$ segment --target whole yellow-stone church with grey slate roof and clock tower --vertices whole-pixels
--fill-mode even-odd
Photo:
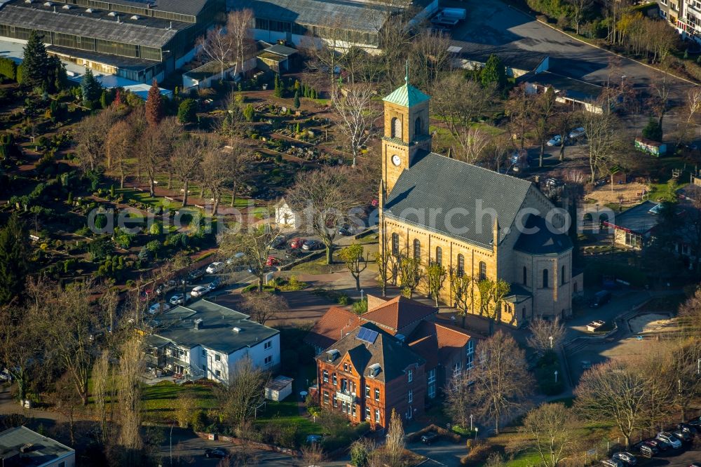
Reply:
[[[571,316],[583,274],[573,271],[566,212],[531,182],[432,152],[430,97],[408,74],[383,101],[379,231],[381,252],[395,259],[390,278],[401,257],[414,257],[473,283],[508,282],[502,323]],[[439,298],[453,306],[454,297],[447,278]]]

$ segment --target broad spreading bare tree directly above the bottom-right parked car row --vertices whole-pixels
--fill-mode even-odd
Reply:
[[[613,421],[628,448],[633,432],[644,428],[648,391],[648,378],[630,361],[608,360],[582,375],[575,390],[575,407],[587,420]]]

